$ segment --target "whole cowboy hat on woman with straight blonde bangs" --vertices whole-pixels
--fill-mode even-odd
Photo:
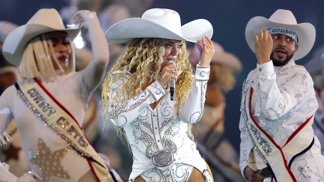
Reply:
[[[56,9],[40,9],[25,24],[9,33],[3,44],[3,55],[9,63],[19,65],[27,43],[46,32],[64,31],[72,41],[79,28],[65,28]]]

